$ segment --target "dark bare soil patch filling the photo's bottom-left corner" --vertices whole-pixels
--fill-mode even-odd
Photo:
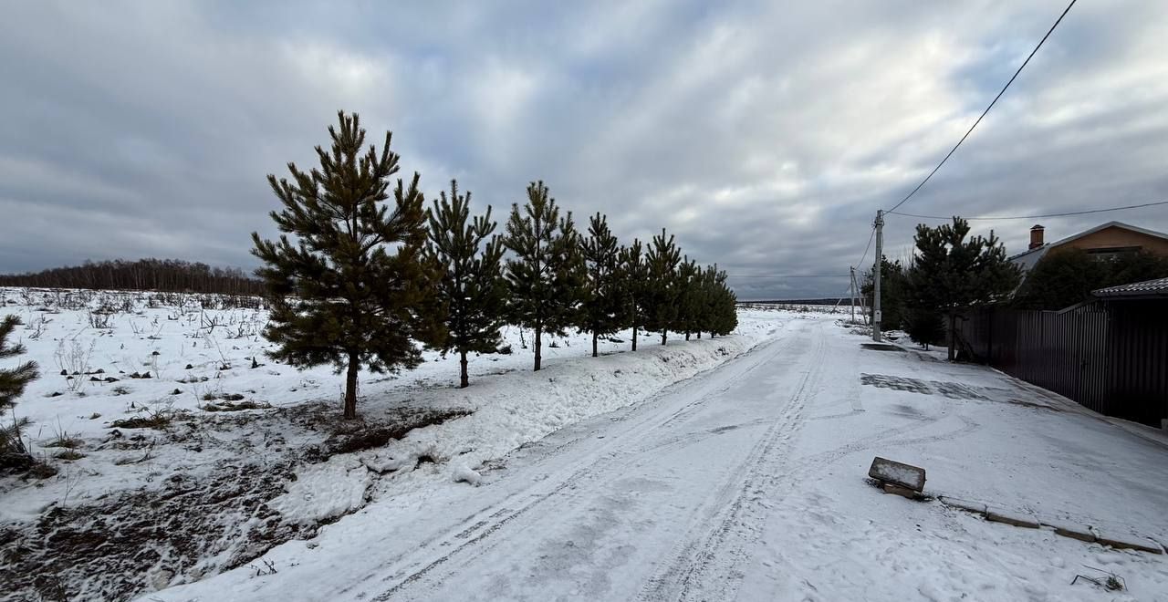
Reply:
[[[224,467],[201,482],[174,475],[161,489],[54,508],[30,528],[0,533],[0,582],[29,600],[127,600],[175,575],[244,565],[315,533],[264,505],[290,478],[288,463]]]

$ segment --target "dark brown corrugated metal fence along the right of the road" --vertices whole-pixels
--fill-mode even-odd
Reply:
[[[1168,418],[1163,301],[972,310],[958,321],[958,335],[974,359],[1096,412],[1156,427]]]

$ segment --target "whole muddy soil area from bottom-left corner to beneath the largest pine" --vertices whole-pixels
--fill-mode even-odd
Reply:
[[[228,404],[248,402],[217,402]],[[305,404],[267,412],[167,412],[173,415],[165,422],[154,421],[154,413],[118,421],[119,428],[137,430],[112,429],[92,454],[119,453],[114,463],[134,464],[173,457],[167,450],[183,448],[228,452],[238,460],[197,476],[164,469],[150,487],[53,508],[35,523],[0,525],[0,597],[128,600],[248,565],[340,518],[297,524],[269,506],[297,480],[298,466],[381,447],[470,413],[394,408],[346,421],[333,404]],[[232,436],[222,436],[227,432]],[[319,443],[301,447],[305,439]]]

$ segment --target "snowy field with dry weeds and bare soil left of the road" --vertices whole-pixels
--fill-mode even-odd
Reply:
[[[227,568],[263,573],[252,559],[273,545],[375,501],[468,489],[520,446],[642,401],[781,324],[742,312],[732,336],[665,348],[642,336],[637,354],[623,332],[599,358],[586,335],[569,336],[544,342],[540,372],[510,328],[514,352],[472,357],[466,390],[437,354],[396,377],[362,374],[353,425],[340,420],[343,378],[267,359],[266,312],[234,304],[0,289],[0,314],[25,321],[21,359],[42,373],[16,415],[57,469],[0,480],[0,597],[124,598]]]

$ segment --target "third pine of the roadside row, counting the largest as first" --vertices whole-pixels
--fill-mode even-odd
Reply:
[[[584,264],[577,249],[576,226],[569,211],[559,217],[548,187],[531,182],[527,204],[512,205],[505,244],[515,258],[507,260],[508,313],[521,328],[534,330],[535,370],[540,370],[542,336],[564,336],[578,322]]]

